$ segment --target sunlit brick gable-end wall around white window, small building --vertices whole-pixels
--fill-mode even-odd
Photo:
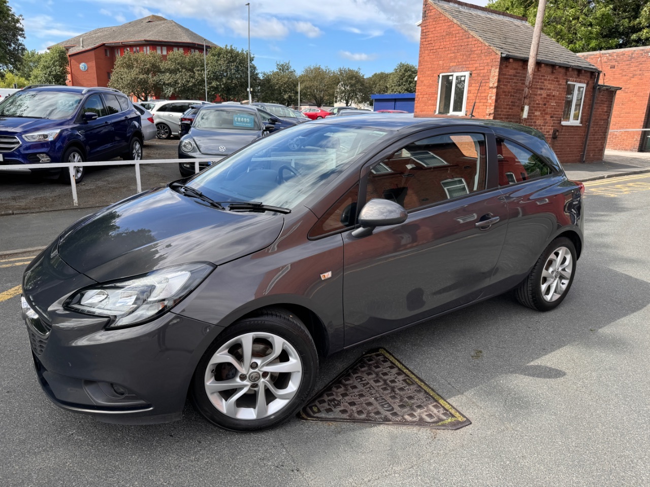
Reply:
[[[476,99],[474,117],[493,118],[499,55],[425,0],[415,90],[415,116],[428,117],[435,114],[440,73],[461,71],[471,72],[467,81],[465,114],[469,116]]]

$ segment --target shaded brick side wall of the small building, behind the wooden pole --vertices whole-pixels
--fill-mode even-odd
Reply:
[[[538,63],[530,88],[528,118],[522,120],[521,104],[526,69],[528,69],[527,61],[513,59],[501,61],[494,118],[515,123],[523,121],[525,125],[538,129],[544,134],[560,162],[580,162],[596,73]],[[580,125],[562,125],[567,81],[587,85]],[[553,131],[557,131],[557,138],[552,138]],[[590,145],[593,145],[593,139],[590,140]],[[603,148],[596,147],[595,153],[602,152],[601,149]],[[596,160],[601,160],[601,157]],[[593,159],[586,160],[586,162],[592,161]]]

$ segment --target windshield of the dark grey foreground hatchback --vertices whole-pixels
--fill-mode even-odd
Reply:
[[[187,184],[215,201],[258,201],[291,210],[387,133],[301,123],[248,145]]]

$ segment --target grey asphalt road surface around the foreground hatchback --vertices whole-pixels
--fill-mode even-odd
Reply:
[[[168,425],[98,423],[49,403],[19,298],[0,294],[0,485],[648,485],[650,175],[636,178],[587,185],[586,249],[560,308],[497,297],[322,364],[319,386],[386,347],[471,419],[458,431],[292,419],[235,434],[191,406]],[[31,255],[0,257],[0,293]]]

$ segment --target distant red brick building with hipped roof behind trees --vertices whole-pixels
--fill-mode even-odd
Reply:
[[[172,51],[203,53],[203,42],[206,47],[216,47],[173,20],[150,15],[117,27],[101,27],[59,45],[68,51],[68,85],[108,86],[116,58],[126,51],[158,51],[166,59]]]

